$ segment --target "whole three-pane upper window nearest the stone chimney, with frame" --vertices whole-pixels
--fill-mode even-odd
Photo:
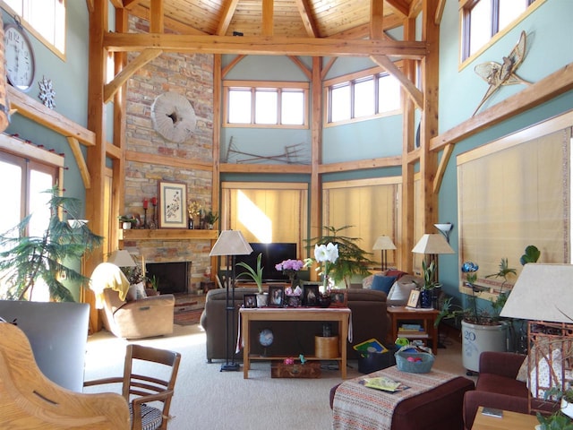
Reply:
[[[308,127],[307,82],[224,82],[225,125]]]

